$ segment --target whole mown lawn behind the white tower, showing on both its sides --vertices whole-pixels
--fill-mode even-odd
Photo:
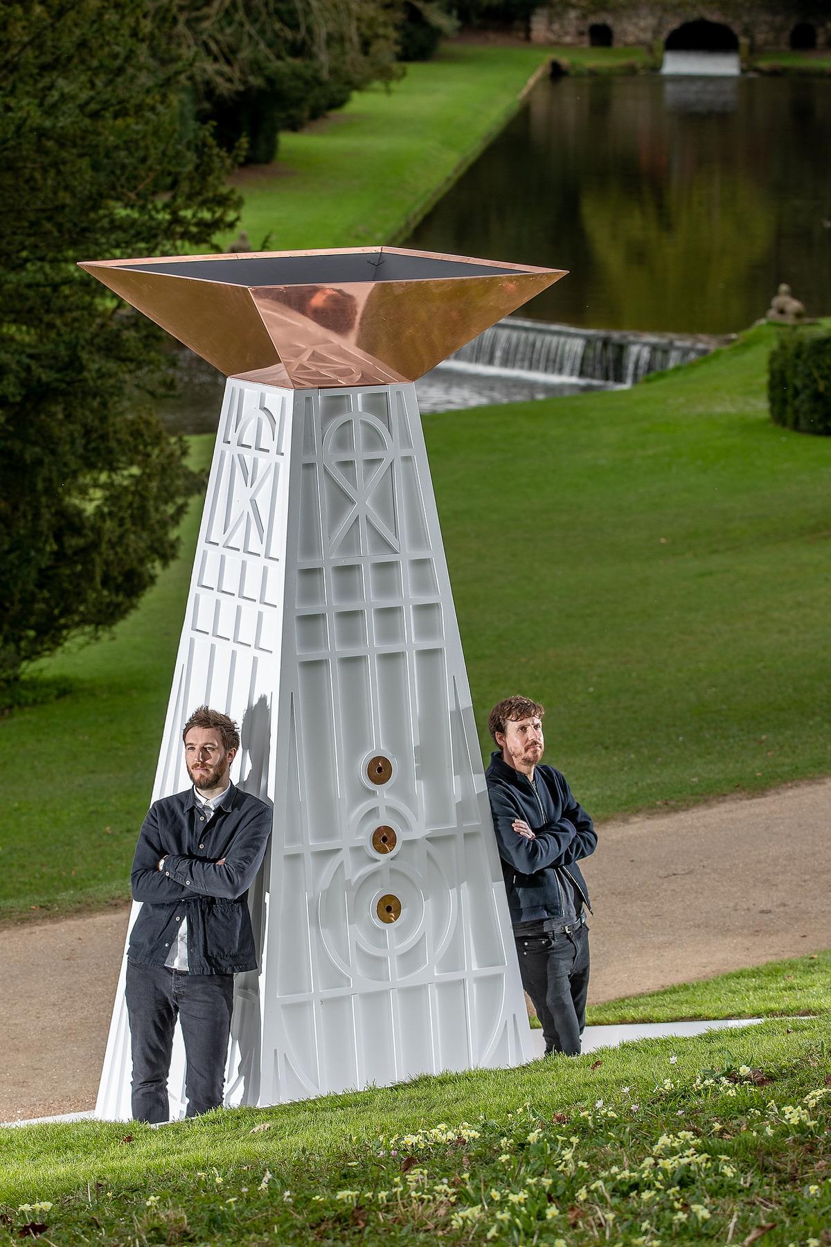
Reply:
[[[542,698],[594,814],[831,769],[831,439],[767,419],[774,333],[629,392],[425,419],[478,722]],[[125,894],[197,511],[115,636],[45,665],[72,695],[0,722],[0,913]]]

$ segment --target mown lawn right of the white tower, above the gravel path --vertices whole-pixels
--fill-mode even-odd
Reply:
[[[593,813],[830,768],[831,439],[770,423],[774,338],[427,423],[480,722],[539,697]]]

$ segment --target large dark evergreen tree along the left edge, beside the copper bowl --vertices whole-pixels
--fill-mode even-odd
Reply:
[[[176,552],[194,476],[143,398],[162,335],[77,259],[211,248],[228,160],[188,120],[162,0],[4,5],[0,46],[0,692],[121,620]]]

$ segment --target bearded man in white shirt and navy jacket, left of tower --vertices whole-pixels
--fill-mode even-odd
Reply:
[[[222,1104],[234,974],[257,968],[248,913],[272,829],[265,802],[230,782],[237,725],[201,706],[182,732],[193,787],[153,802],[130,877],[142,907],[127,949],[136,1121],[169,1117],[167,1076],[182,1026],[187,1116]]]

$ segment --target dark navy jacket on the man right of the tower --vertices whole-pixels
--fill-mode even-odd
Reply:
[[[532,784],[496,751],[491,754],[485,778],[511,922],[562,917],[554,867],[559,867],[577,884],[588,905],[588,888],[577,863],[594,852],[597,833],[559,771],[547,766],[534,767]],[[512,826],[515,818],[523,818],[536,833],[536,839],[518,835]]]

